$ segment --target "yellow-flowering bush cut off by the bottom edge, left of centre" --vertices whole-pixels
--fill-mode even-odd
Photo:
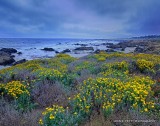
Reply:
[[[53,105],[42,112],[39,124],[42,126],[78,126],[81,124],[82,116],[76,111],[64,109],[62,106]]]

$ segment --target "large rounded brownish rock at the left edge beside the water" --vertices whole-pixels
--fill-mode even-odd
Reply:
[[[10,54],[0,51],[0,65],[9,65],[13,62],[15,62],[15,60]]]

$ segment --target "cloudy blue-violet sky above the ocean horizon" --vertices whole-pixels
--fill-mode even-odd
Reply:
[[[160,0],[0,0],[0,38],[160,34]]]

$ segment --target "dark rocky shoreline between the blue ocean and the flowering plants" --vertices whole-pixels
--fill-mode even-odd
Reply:
[[[63,51],[57,51],[54,48],[45,47],[41,49],[46,52],[54,52],[57,53],[67,53],[67,54],[80,54],[80,53],[99,53],[100,51],[106,51],[108,53],[112,52],[124,52],[124,53],[154,53],[160,54],[160,41],[159,40],[124,40],[119,42],[118,44],[114,43],[100,43],[95,46],[102,46],[103,49],[95,49],[89,44],[80,44],[76,43],[78,47],[74,49],[64,49]],[[0,65],[2,66],[12,66],[20,63],[24,63],[27,60],[21,59],[16,61],[16,55],[22,55],[23,52],[18,52],[18,50],[14,48],[2,48],[0,49]],[[48,57],[50,58],[50,57]]]

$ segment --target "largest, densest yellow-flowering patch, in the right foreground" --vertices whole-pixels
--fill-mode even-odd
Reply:
[[[153,84],[149,77],[136,76],[124,82],[116,78],[90,78],[79,88],[71,106],[83,116],[93,109],[102,110],[105,115],[122,107],[149,111],[154,108],[152,100],[147,99]]]

